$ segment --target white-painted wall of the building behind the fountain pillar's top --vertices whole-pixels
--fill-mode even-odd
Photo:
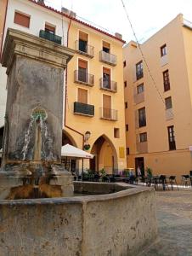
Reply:
[[[30,27],[20,26],[14,24],[14,11],[18,10],[26,15],[31,15]],[[59,14],[54,13],[51,10],[45,9],[42,6],[38,6],[35,3],[31,3],[26,0],[9,0],[8,1],[8,13],[6,18],[6,25],[4,31],[4,40],[6,38],[6,33],[8,27],[19,29],[23,32],[31,33],[35,36],[39,36],[39,31],[44,29],[45,22],[53,24],[56,26],[55,34],[64,38],[62,44],[66,46],[67,44],[67,30],[68,30],[68,20]],[[4,43],[4,42],[3,42]],[[6,69],[0,66],[0,127],[4,125],[4,113],[7,101],[7,75],[5,73]]]

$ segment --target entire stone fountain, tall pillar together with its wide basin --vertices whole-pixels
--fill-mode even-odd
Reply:
[[[64,46],[8,29],[1,256],[134,256],[157,235],[154,189],[73,184],[61,165],[64,69],[72,56]]]

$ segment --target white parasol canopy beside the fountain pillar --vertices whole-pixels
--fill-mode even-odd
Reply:
[[[66,144],[61,148],[61,156],[67,157],[76,157],[76,158],[93,158],[93,154],[89,154],[86,151],[83,151],[80,148],[76,148],[71,146],[70,144]]]

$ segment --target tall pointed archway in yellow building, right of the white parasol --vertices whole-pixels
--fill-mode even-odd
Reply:
[[[105,135],[100,136],[93,143],[91,154],[94,154],[93,160],[90,160],[91,170],[99,172],[104,169],[108,174],[118,171],[116,148]]]

